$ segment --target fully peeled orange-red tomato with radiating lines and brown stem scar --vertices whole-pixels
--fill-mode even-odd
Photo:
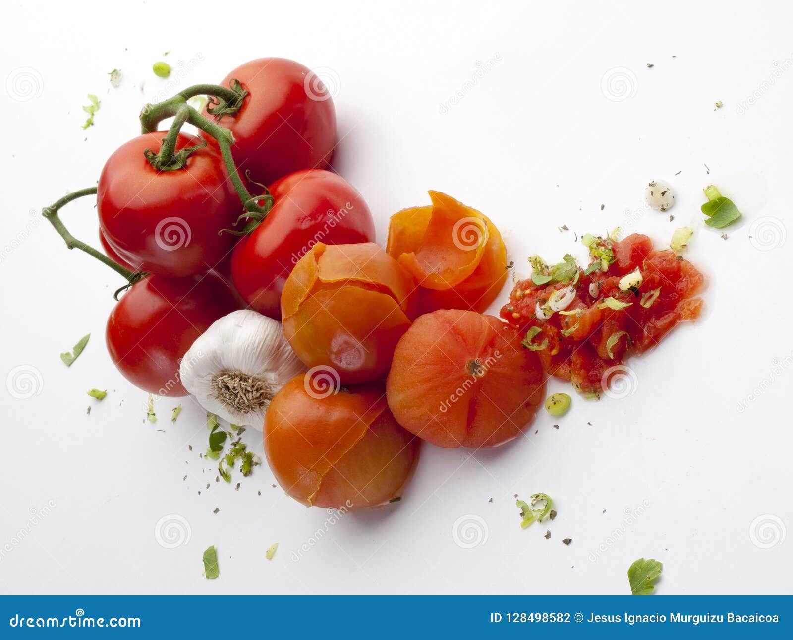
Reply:
[[[495,316],[438,310],[401,338],[385,388],[394,418],[419,438],[495,446],[531,424],[545,374],[519,333]]]

